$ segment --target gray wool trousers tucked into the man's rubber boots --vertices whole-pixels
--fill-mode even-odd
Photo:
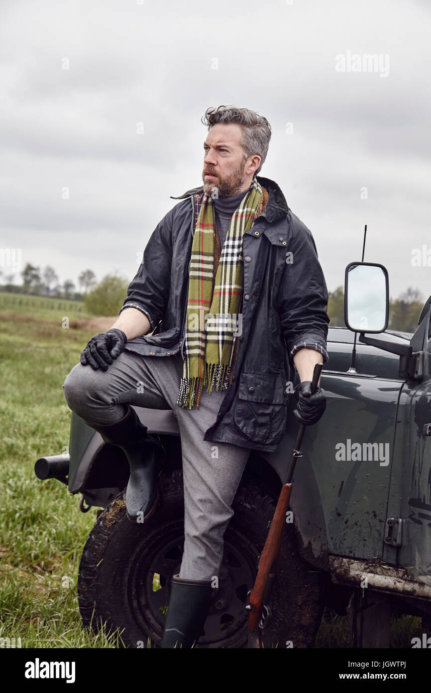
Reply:
[[[125,403],[175,412],[183,451],[185,506],[179,577],[210,580],[219,574],[223,535],[250,450],[203,440],[226,390],[208,393],[204,387],[199,409],[177,407],[182,373],[180,353],[153,357],[125,349],[107,371],[93,371],[78,363],[62,387],[68,407],[89,426],[120,421]]]

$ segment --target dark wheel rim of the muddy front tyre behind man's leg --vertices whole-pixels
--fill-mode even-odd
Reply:
[[[180,570],[183,544],[182,527],[178,527],[146,545],[144,551],[138,547],[132,559],[128,590],[131,611],[139,629],[152,632],[158,642],[163,637],[171,581]],[[214,589],[205,634],[197,647],[229,647],[230,640],[245,644],[246,597],[255,581],[256,565],[257,554],[246,538],[227,530],[219,586]]]

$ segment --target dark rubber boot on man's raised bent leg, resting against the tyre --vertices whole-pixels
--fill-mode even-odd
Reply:
[[[158,464],[164,460],[164,451],[158,439],[147,433],[147,426],[128,404],[127,413],[117,423],[92,426],[105,443],[123,450],[130,467],[126,489],[126,513],[131,522],[150,518],[158,505]]]

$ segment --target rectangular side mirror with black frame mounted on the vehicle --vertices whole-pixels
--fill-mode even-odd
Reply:
[[[383,265],[351,262],[345,274],[345,323],[353,332],[384,332],[389,322],[389,279]]]

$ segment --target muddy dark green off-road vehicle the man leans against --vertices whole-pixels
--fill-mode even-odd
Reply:
[[[329,328],[322,371],[327,410],[306,429],[293,477],[265,647],[310,647],[324,606],[351,615],[351,647],[388,647],[391,613],[431,625],[431,297],[414,335],[386,329],[382,265],[351,263],[345,297],[348,328]],[[292,397],[277,453],[250,453],[196,647],[246,647],[248,592],[295,441],[294,408]],[[183,552],[181,441],[174,412],[136,411],[168,459],[161,505],[145,524],[126,516],[122,451],[75,414],[70,454],[38,459],[35,472],[80,493],[83,512],[102,509],[80,562],[84,626],[103,622],[129,647],[158,647]]]

